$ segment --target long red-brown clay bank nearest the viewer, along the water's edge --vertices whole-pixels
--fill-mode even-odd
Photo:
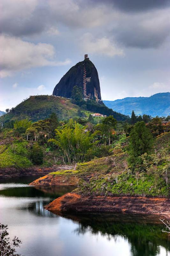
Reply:
[[[170,219],[170,198],[147,198],[135,196],[82,196],[67,193],[44,207],[61,213],[137,213],[159,215]]]

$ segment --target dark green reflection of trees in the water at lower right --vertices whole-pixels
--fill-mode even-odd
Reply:
[[[128,220],[127,220],[128,218]],[[162,233],[162,225],[154,223],[154,220],[147,220],[142,217],[135,219],[134,216],[90,216],[76,217],[79,222],[75,232],[85,234],[101,234],[107,239],[116,239],[123,237],[131,245],[131,254],[133,256],[156,256],[160,253],[160,246],[170,252],[170,237]]]

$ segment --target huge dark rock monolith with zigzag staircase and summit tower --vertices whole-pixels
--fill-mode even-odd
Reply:
[[[98,72],[89,60],[88,54],[85,54],[85,59],[70,68],[61,78],[54,88],[53,95],[71,98],[75,85],[82,88],[84,99],[101,100]]]

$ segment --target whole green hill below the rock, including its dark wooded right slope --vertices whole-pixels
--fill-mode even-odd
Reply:
[[[91,102],[87,104],[87,110],[73,104],[70,99],[49,95],[30,96],[29,99],[21,102],[10,112],[0,117],[0,122],[7,122],[11,120],[29,119],[38,121],[48,118],[51,113],[56,113],[60,120],[65,120],[74,117],[89,116],[94,112],[104,115],[114,115],[117,120],[125,120],[127,116],[114,112],[107,108],[103,103]]]

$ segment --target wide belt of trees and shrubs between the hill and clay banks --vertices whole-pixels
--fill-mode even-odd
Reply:
[[[132,113],[129,123],[113,116],[96,122],[91,115],[59,121],[52,113],[16,120],[0,130],[0,168],[76,164],[52,174],[77,177],[78,193],[167,197],[170,125],[144,119]]]

